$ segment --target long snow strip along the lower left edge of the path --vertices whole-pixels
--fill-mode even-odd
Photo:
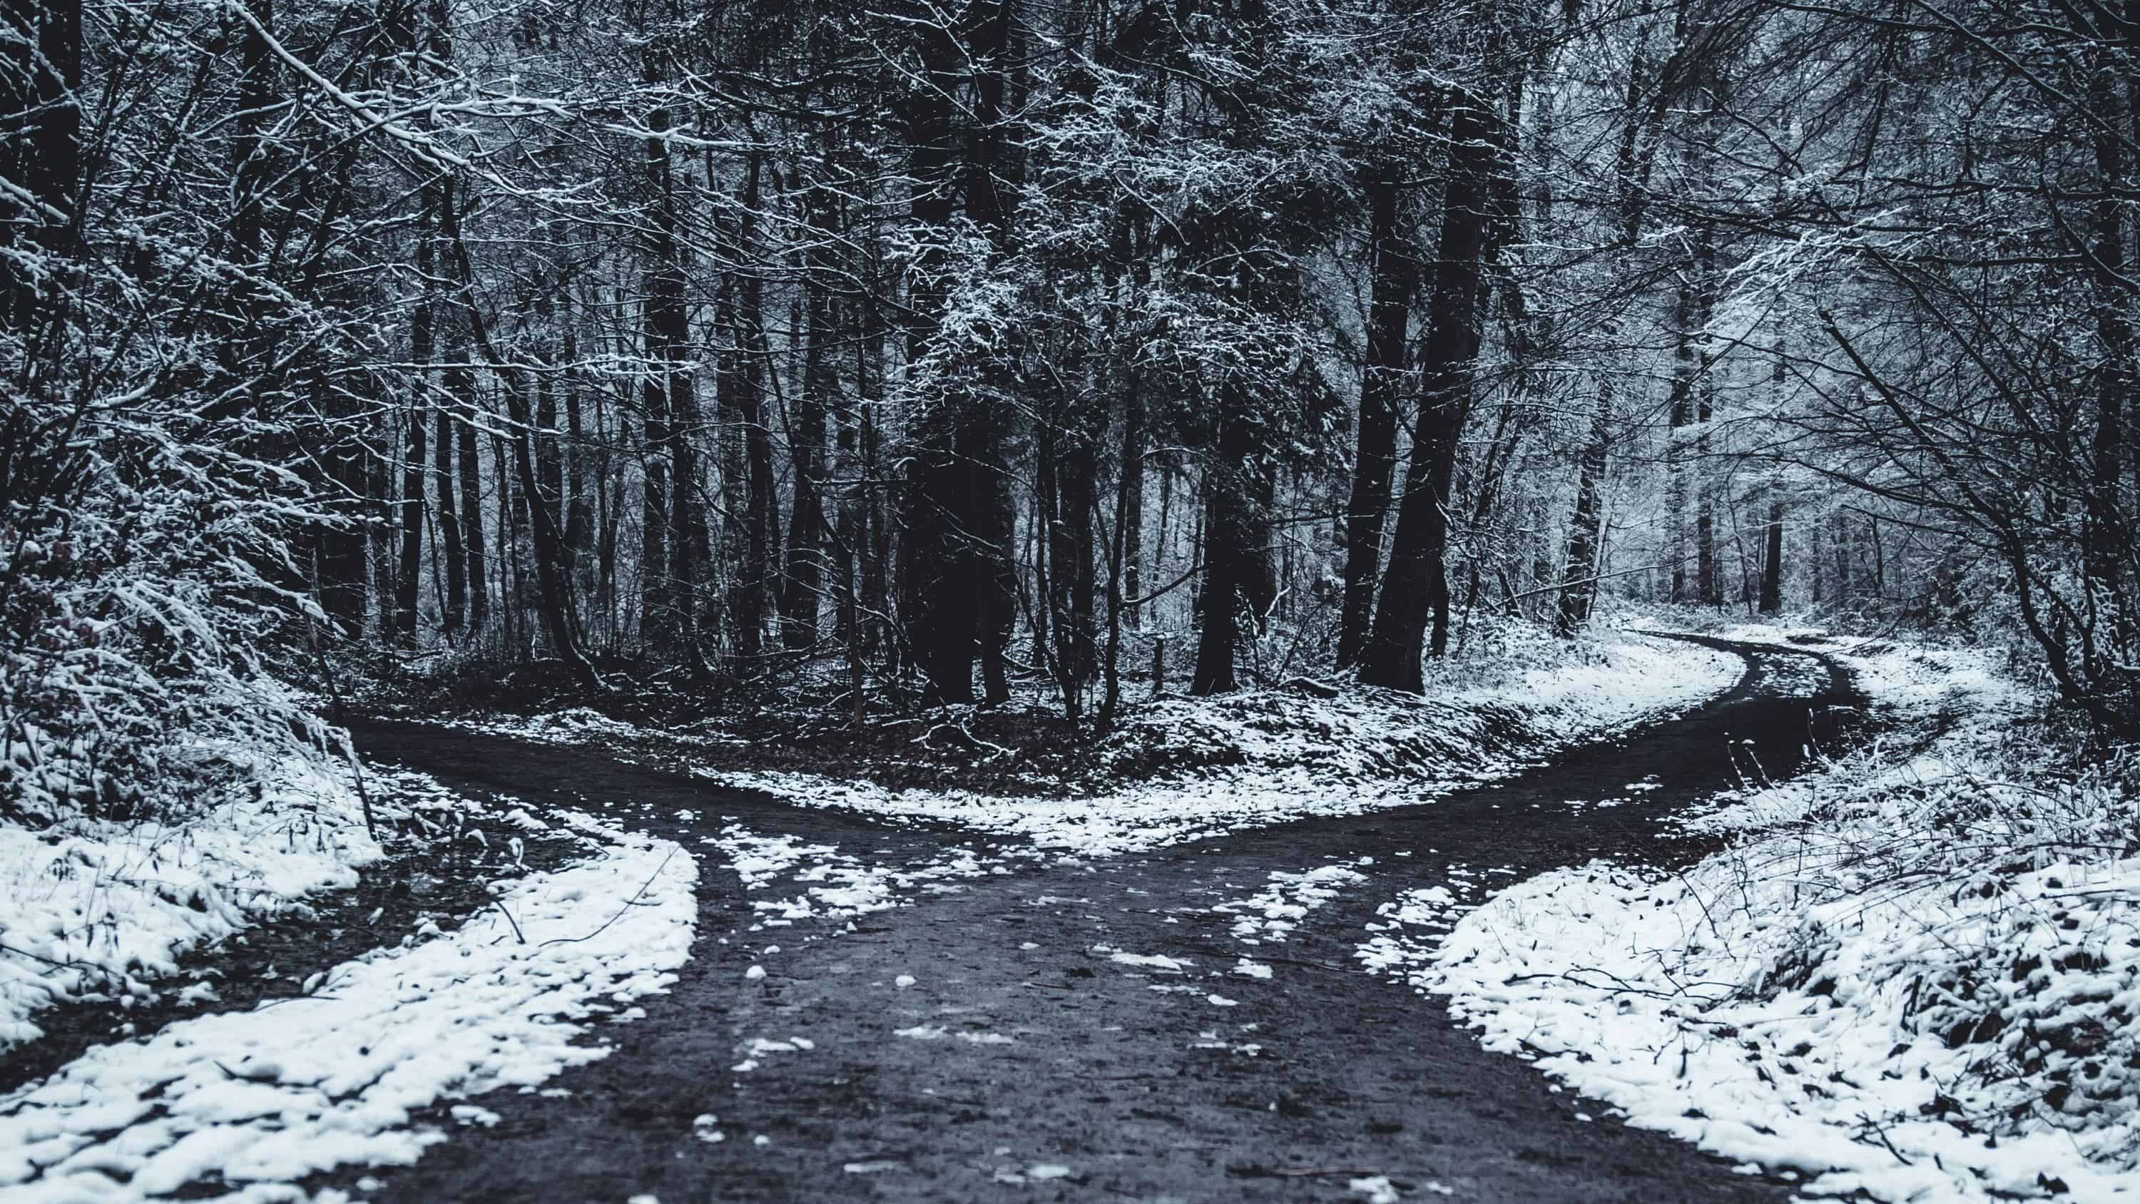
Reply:
[[[698,868],[668,840],[601,836],[584,864],[496,883],[496,907],[452,935],[345,962],[302,999],[101,1046],[0,1097],[0,1195],[146,1200],[205,1180],[231,1202],[306,1200],[297,1180],[317,1170],[411,1163],[445,1140],[417,1108],[535,1091],[606,1056],[576,1039],[674,982]]]

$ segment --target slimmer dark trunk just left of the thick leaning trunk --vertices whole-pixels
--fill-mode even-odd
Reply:
[[[1397,225],[1397,182],[1367,182],[1367,364],[1359,389],[1359,453],[1344,518],[1344,609],[1338,620],[1338,667],[1359,663],[1374,620],[1374,577],[1382,560],[1382,524],[1397,473],[1397,398],[1404,379],[1404,334],[1419,265]]]

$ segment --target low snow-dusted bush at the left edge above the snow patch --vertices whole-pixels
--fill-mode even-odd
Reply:
[[[139,411],[77,430],[73,503],[15,494],[0,520],[0,817],[257,798],[282,757],[330,742],[259,657],[287,620],[263,575],[280,507]]]

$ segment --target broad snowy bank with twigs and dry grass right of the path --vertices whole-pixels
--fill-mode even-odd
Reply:
[[[1907,746],[1736,791],[1691,821],[1733,845],[1684,873],[1554,870],[1361,956],[1808,1195],[2140,1193],[2131,798],[2076,778],[1986,654],[1727,635],[1840,654]]]

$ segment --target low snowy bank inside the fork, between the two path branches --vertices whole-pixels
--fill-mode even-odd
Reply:
[[[1434,697],[1267,689],[1134,708],[1076,798],[886,789],[792,772],[710,772],[802,806],[918,817],[1027,838],[1074,858],[1160,849],[1310,815],[1359,815],[1511,776],[1569,746],[1729,691],[1738,657],[1624,635],[1581,661]]]

